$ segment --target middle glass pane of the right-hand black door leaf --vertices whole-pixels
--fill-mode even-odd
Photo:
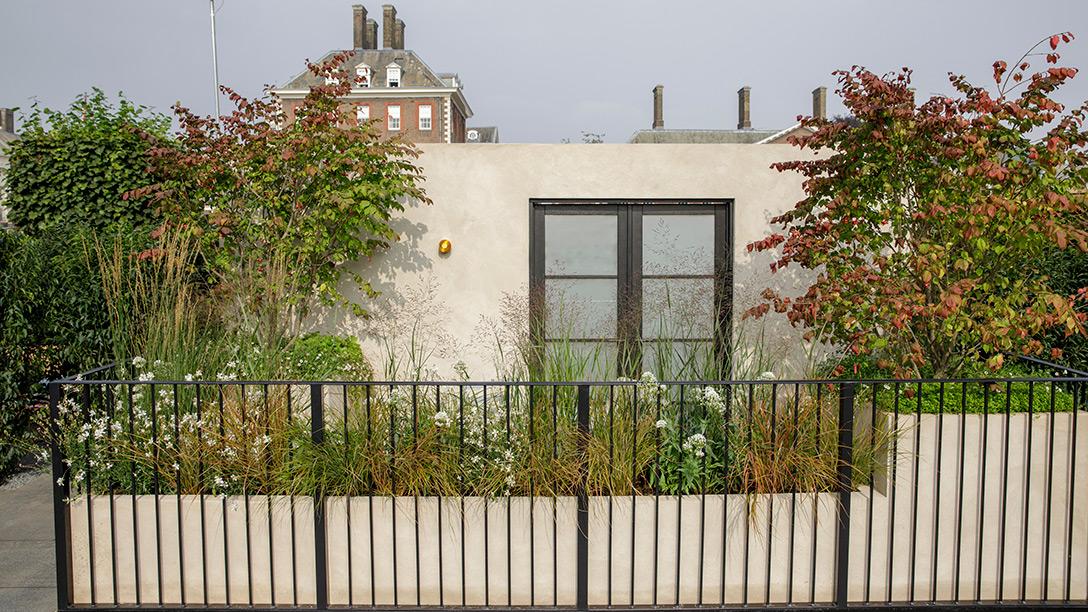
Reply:
[[[713,338],[714,279],[643,279],[643,338]]]

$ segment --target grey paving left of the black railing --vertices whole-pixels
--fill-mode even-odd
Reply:
[[[57,610],[53,502],[49,473],[0,486],[0,612]]]

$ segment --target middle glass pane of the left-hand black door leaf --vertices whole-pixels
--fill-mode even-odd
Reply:
[[[546,338],[616,338],[615,280],[548,279],[544,289]]]

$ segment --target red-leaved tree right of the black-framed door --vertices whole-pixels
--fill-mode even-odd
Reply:
[[[1059,65],[1072,38],[1041,40],[1012,70],[996,62],[993,93],[950,74],[956,94],[920,106],[908,69],[837,72],[856,123],[802,119],[813,132],[793,143],[820,155],[774,168],[801,173],[805,197],[747,245],[774,254],[772,272],[815,280],[766,290],[747,316],[784,314],[809,340],[914,376],[997,369],[1043,352],[1044,332],[1085,334],[1088,287],[1060,294],[1036,265],[1088,250],[1088,102],[1052,97],[1077,74]],[[1040,57],[1048,68],[1028,74]]]

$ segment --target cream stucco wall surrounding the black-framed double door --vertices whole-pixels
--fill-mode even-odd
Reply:
[[[734,313],[769,283],[768,259],[745,246],[802,196],[795,173],[776,161],[811,155],[789,145],[423,145],[419,164],[431,206],[413,206],[397,222],[403,240],[356,265],[383,292],[369,322],[333,316],[325,329],[356,333],[382,370],[391,338],[400,351],[415,327],[429,344],[432,376],[463,362],[473,378],[491,378],[495,345],[483,321],[516,311],[529,283],[530,198],[732,198]],[[440,256],[442,238],[453,253]],[[781,277],[781,274],[779,276]],[[509,317],[507,317],[509,318]],[[396,325],[398,329],[391,330]],[[500,327],[509,327],[500,326]],[[776,325],[769,343],[789,347],[796,367],[800,333]],[[783,336],[786,336],[783,339]],[[379,340],[386,339],[385,341]],[[401,358],[401,362],[404,359]]]

